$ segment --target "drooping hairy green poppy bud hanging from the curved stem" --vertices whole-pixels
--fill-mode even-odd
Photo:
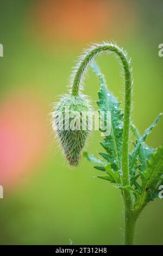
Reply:
[[[84,95],[64,95],[53,112],[55,130],[64,154],[72,166],[77,166],[89,135],[89,118],[92,113]]]

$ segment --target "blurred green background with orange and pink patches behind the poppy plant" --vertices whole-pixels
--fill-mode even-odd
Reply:
[[[132,57],[132,119],[142,133],[162,109],[161,0],[6,0],[0,3],[1,244],[117,245],[122,243],[120,191],[94,177],[85,159],[69,168],[55,141],[48,113],[65,93],[74,60],[90,42],[113,40]],[[121,68],[112,56],[97,58],[110,90],[123,100]],[[92,71],[85,94],[96,107]],[[148,144],[163,143],[163,120]],[[94,132],[87,146],[102,150]],[[163,200],[149,204],[137,224],[138,244],[163,244]],[[139,232],[138,232],[139,230]]]

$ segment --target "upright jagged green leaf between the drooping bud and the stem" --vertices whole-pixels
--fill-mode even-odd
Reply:
[[[100,82],[100,90],[98,92],[99,100],[97,105],[99,111],[110,111],[111,114],[111,132],[109,136],[105,136],[102,147],[106,153],[100,153],[115,171],[120,170],[122,165],[122,132],[123,132],[123,114],[121,113],[120,103],[117,98],[106,88],[104,76],[99,72],[96,64],[93,63],[93,71],[98,75]]]

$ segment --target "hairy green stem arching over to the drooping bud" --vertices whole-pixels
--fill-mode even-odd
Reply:
[[[87,66],[92,58],[103,51],[115,52],[121,59],[124,69],[125,79],[125,102],[124,102],[124,123],[123,123],[123,141],[122,141],[122,185],[129,186],[129,128],[130,128],[130,111],[131,111],[131,69],[127,54],[120,47],[114,44],[104,43],[95,45],[86,51],[79,59],[79,63],[72,75],[72,95],[78,96],[79,89],[82,86],[83,77]],[[129,239],[134,234],[134,224],[130,221],[129,213],[132,210],[131,192],[124,190],[123,192],[124,206],[126,212],[126,243],[129,244],[132,239]]]

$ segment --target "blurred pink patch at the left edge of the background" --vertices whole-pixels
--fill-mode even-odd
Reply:
[[[0,107],[1,184],[22,181],[47,150],[46,113],[41,100],[27,92],[14,93]]]

